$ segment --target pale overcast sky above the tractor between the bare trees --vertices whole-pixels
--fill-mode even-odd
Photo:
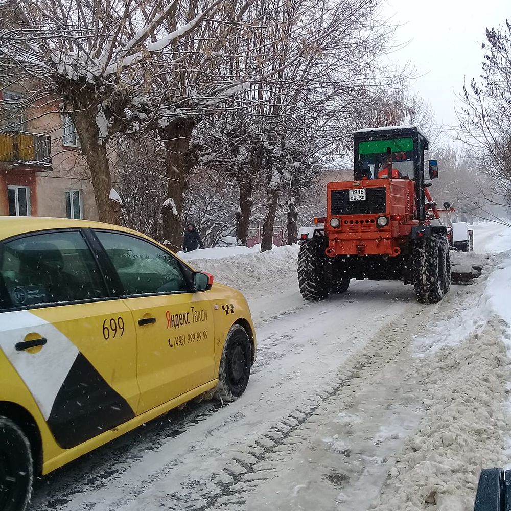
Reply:
[[[486,27],[498,27],[511,18],[511,0],[387,0],[384,13],[400,26],[398,43],[409,44],[394,57],[414,62],[413,89],[432,106],[435,123],[457,125],[456,95],[463,80],[481,73]],[[459,103],[458,103],[459,105]]]

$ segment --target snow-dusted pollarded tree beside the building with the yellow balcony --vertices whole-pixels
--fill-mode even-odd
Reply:
[[[11,0],[18,13],[2,20],[0,67],[4,79],[23,81],[30,101],[57,98],[71,115],[92,177],[100,219],[115,223],[109,200],[108,143],[126,129],[138,86],[155,60],[214,15],[220,0],[173,31],[164,26],[177,0],[148,10],[133,0]]]

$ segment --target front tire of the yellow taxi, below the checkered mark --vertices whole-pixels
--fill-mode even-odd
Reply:
[[[233,357],[239,357],[243,354],[243,375],[237,382],[231,378],[231,364]],[[239,362],[239,361],[238,361]],[[245,392],[250,378],[250,366],[252,362],[252,351],[250,349],[250,340],[245,329],[235,324],[229,330],[220,359],[220,368],[218,370],[218,385],[215,391],[215,398],[223,403],[231,403]]]

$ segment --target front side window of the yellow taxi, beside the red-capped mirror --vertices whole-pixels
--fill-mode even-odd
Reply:
[[[181,266],[171,254],[140,238],[96,231],[124,287],[124,294],[189,292]]]

